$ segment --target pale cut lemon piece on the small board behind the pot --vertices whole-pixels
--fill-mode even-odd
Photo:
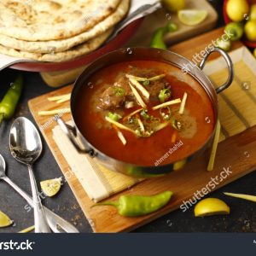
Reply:
[[[178,19],[185,25],[195,26],[207,18],[207,11],[203,9],[182,9],[178,11]]]

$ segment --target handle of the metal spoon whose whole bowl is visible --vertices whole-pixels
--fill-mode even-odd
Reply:
[[[47,224],[44,208],[41,203],[41,199],[38,193],[38,186],[36,183],[36,179],[34,177],[34,173],[32,170],[32,166],[27,166],[29,172],[29,178],[32,188],[32,200],[34,205],[34,218],[35,218],[35,233],[50,233],[49,225]]]

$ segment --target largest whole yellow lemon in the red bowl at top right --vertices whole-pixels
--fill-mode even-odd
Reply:
[[[230,20],[241,21],[249,15],[247,0],[229,0],[227,3],[227,14]]]

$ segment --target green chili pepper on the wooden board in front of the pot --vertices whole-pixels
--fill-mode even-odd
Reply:
[[[147,215],[166,206],[173,193],[166,191],[158,195],[121,195],[119,201],[108,201],[97,203],[95,206],[113,206],[118,209],[120,215],[125,217],[136,217]]]

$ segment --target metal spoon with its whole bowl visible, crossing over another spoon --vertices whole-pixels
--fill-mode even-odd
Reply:
[[[15,159],[28,168],[34,205],[35,232],[50,233],[32,170],[32,164],[42,153],[43,146],[38,130],[29,119],[24,117],[15,119],[10,130],[9,148]]]

